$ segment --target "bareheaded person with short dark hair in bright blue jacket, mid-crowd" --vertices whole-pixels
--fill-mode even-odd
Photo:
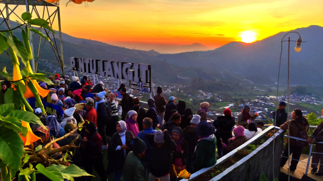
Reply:
[[[138,135],[136,136],[136,137],[139,137],[141,140],[145,141],[145,143],[147,145],[146,157],[143,158],[141,160],[141,162],[142,162],[142,165],[145,168],[144,173],[146,174],[146,170],[147,170],[148,175],[150,173],[149,164],[150,164],[150,147],[151,147],[151,145],[148,142],[148,140],[146,139],[146,135],[156,133],[156,130],[153,130],[152,126],[153,126],[153,120],[150,119],[150,118],[145,118],[144,121],[143,121],[144,130],[139,132]]]

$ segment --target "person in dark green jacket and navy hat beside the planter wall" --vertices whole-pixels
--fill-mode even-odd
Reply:
[[[206,121],[200,121],[198,126],[195,127],[195,132],[200,136],[194,151],[191,163],[191,173],[217,163],[215,158],[217,140],[215,139],[215,128],[213,125]]]

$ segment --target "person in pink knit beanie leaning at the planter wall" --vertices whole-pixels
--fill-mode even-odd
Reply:
[[[228,139],[228,144],[225,144],[221,142],[223,151],[222,155],[226,155],[228,152],[235,150],[239,146],[241,146],[243,143],[247,142],[246,136],[244,136],[244,128],[243,126],[238,126],[235,129],[233,129],[233,133],[235,135],[234,138]]]

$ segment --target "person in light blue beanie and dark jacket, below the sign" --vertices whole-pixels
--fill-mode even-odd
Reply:
[[[102,149],[107,149],[108,140],[106,139],[106,121],[107,121],[107,113],[106,113],[106,104],[104,103],[105,91],[102,91],[96,96],[95,110],[97,111],[97,126],[100,136],[102,137]]]

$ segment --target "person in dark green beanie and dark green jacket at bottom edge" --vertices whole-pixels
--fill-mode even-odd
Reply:
[[[132,147],[133,151],[128,153],[124,162],[120,181],[144,180],[144,166],[141,164],[140,159],[145,158],[145,152],[147,149],[146,143],[140,138],[136,137]]]

